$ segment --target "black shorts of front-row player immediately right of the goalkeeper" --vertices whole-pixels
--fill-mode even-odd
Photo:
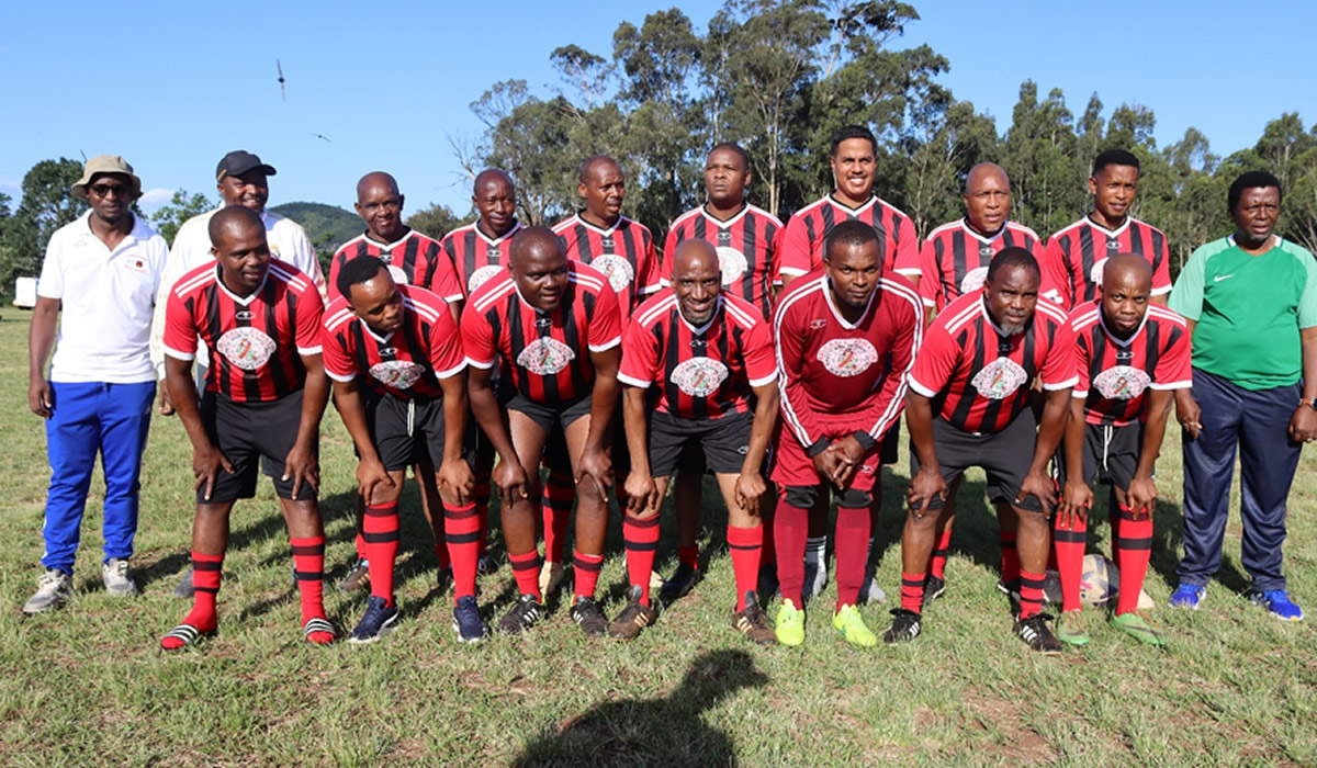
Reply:
[[[1019,483],[1029,474],[1034,461],[1034,447],[1038,443],[1038,425],[1034,412],[1021,411],[1015,420],[1001,432],[965,432],[947,423],[942,416],[932,419],[932,443],[938,449],[938,462],[942,464],[942,480],[950,486],[971,466],[980,466],[988,473],[988,499],[993,503],[1006,502],[1033,512],[1043,511],[1042,502],[1027,495],[1017,502]],[[919,453],[910,449],[910,476],[919,472]],[[942,499],[928,502],[928,508],[942,508]]]

